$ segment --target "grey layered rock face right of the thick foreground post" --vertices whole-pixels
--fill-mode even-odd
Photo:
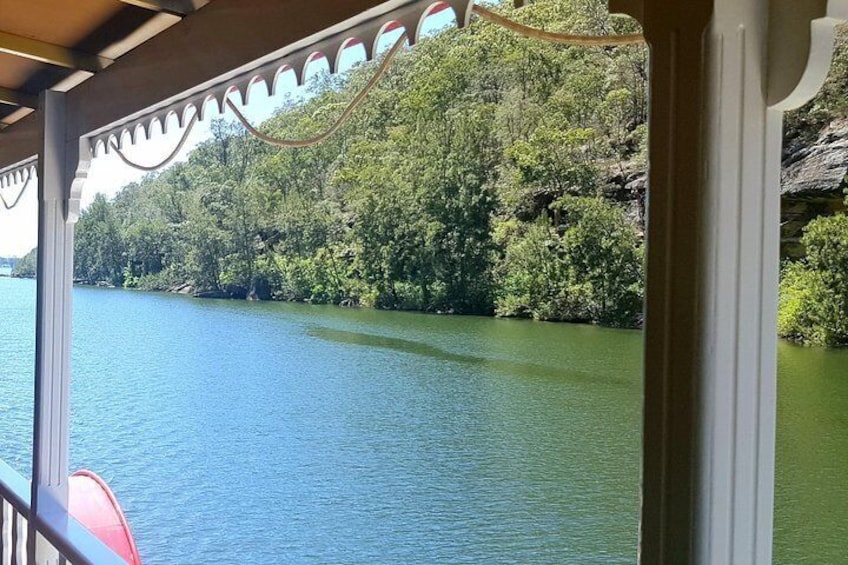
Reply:
[[[844,209],[848,174],[848,120],[836,120],[812,145],[784,152],[781,184],[781,255],[798,258],[804,226],[822,214]]]

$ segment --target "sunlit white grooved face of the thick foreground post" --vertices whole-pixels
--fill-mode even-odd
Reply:
[[[717,0],[708,38],[698,563],[771,563],[783,113],[769,2]]]

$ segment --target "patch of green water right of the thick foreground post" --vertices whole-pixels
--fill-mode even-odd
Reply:
[[[848,350],[778,350],[775,562],[848,563]]]

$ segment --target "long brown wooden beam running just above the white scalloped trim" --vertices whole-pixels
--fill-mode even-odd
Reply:
[[[349,18],[414,0],[215,0],[68,91],[69,136],[89,135],[186,92],[202,90]],[[0,168],[38,152],[37,112],[0,133]]]

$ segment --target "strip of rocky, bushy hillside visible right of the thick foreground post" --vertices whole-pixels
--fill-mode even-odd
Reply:
[[[778,333],[810,345],[848,346],[848,41],[837,39],[814,100],[786,117],[781,175]]]

